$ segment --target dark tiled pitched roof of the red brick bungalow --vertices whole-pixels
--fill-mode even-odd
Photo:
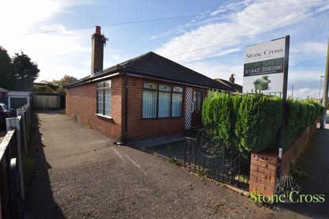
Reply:
[[[230,86],[215,81],[210,77],[206,77],[195,70],[186,68],[176,62],[173,62],[154,52],[145,53],[131,60],[127,60],[110,68],[103,70],[103,73],[97,74],[93,77],[100,77],[113,73],[116,69],[125,69],[126,73],[143,75],[147,77],[156,77],[160,79],[167,79],[171,81],[178,81],[181,83],[188,83],[195,86],[204,86],[206,88],[216,88],[221,90],[234,91]],[[75,83],[92,79],[93,77],[85,77]],[[71,83],[68,87],[73,85]]]

